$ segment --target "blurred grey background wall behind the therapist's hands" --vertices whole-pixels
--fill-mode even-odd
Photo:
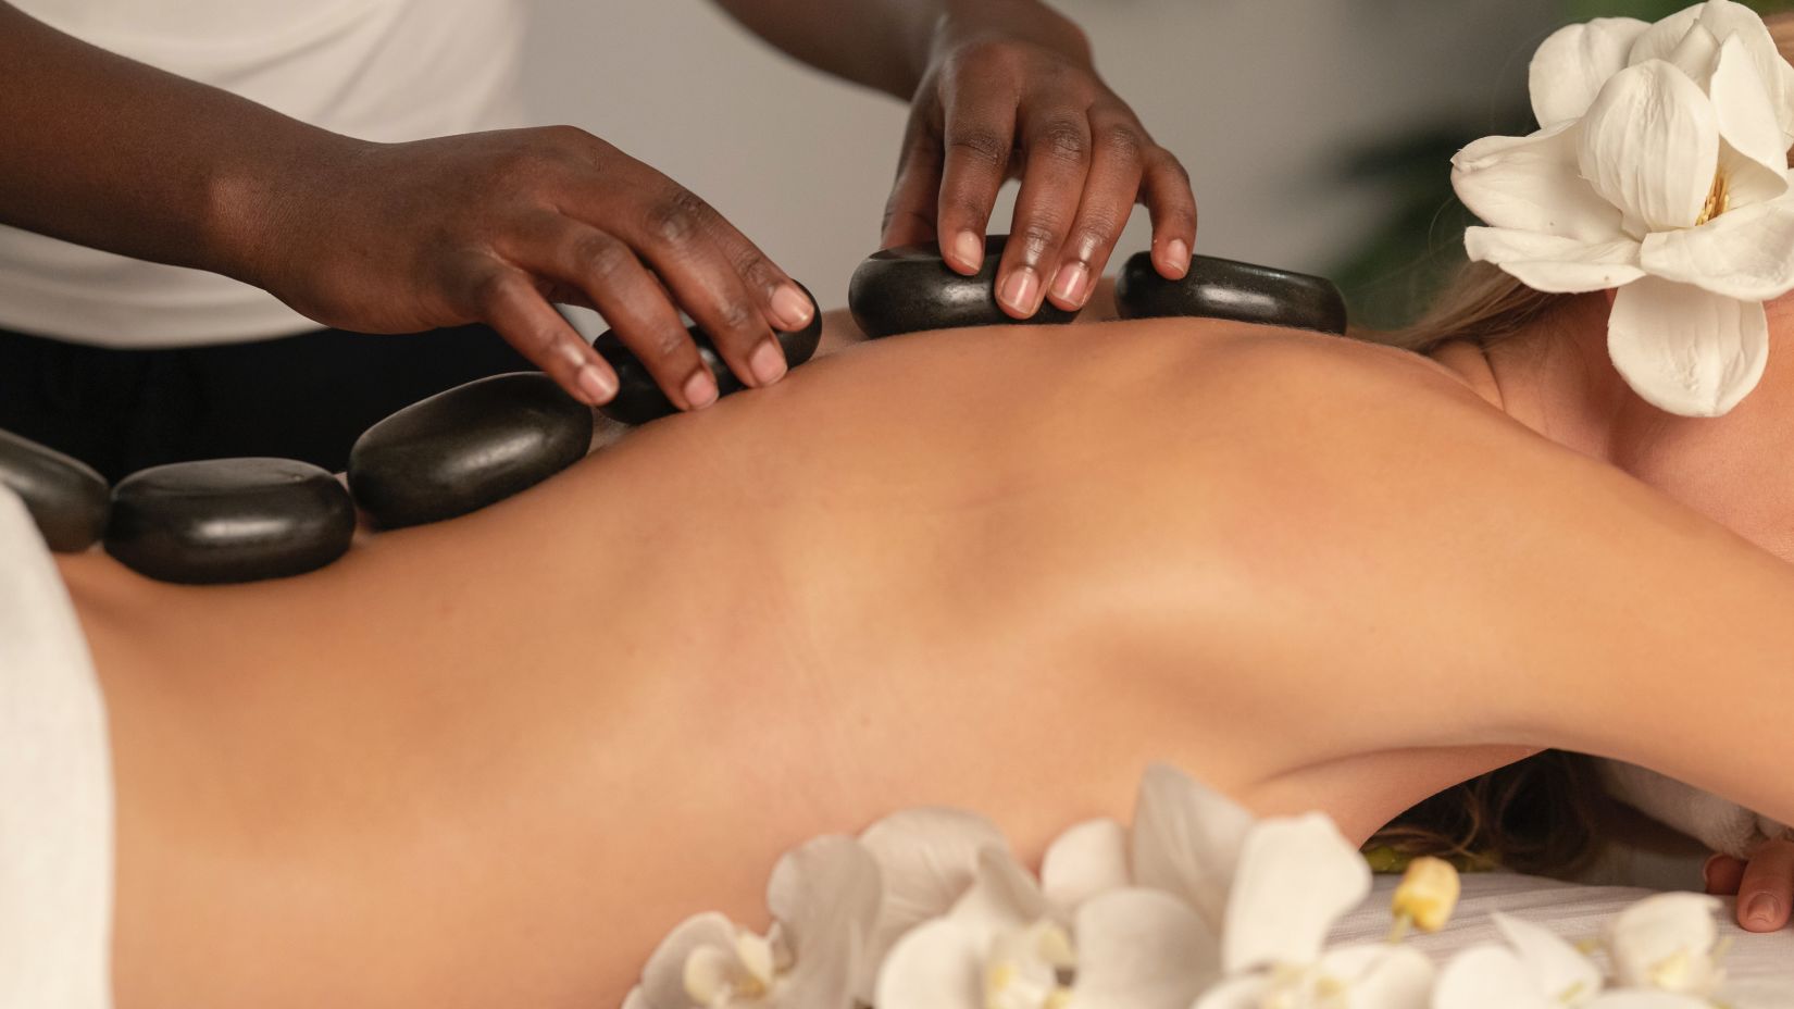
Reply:
[[[1057,5],[1189,169],[1198,251],[1326,273],[1360,321],[1399,321],[1428,268],[1457,255],[1451,153],[1532,129],[1525,86],[1537,43],[1572,18],[1656,18],[1686,2]],[[671,174],[823,305],[845,303],[849,275],[877,246],[902,104],[784,59],[705,0],[535,4],[526,74],[540,120],[590,129]],[[1119,255],[1146,248],[1143,217]],[[994,226],[1006,223],[1005,199]]]

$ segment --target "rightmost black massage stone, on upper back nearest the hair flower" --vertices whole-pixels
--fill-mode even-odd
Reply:
[[[1166,280],[1150,253],[1127,260],[1116,280],[1125,320],[1189,316],[1346,334],[1346,298],[1331,280],[1198,255],[1182,280]]]

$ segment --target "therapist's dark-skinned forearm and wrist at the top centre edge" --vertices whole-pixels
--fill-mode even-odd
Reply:
[[[1084,32],[1039,0],[716,0],[750,31],[836,77],[915,93],[942,38],[1001,29],[1089,59]]]

